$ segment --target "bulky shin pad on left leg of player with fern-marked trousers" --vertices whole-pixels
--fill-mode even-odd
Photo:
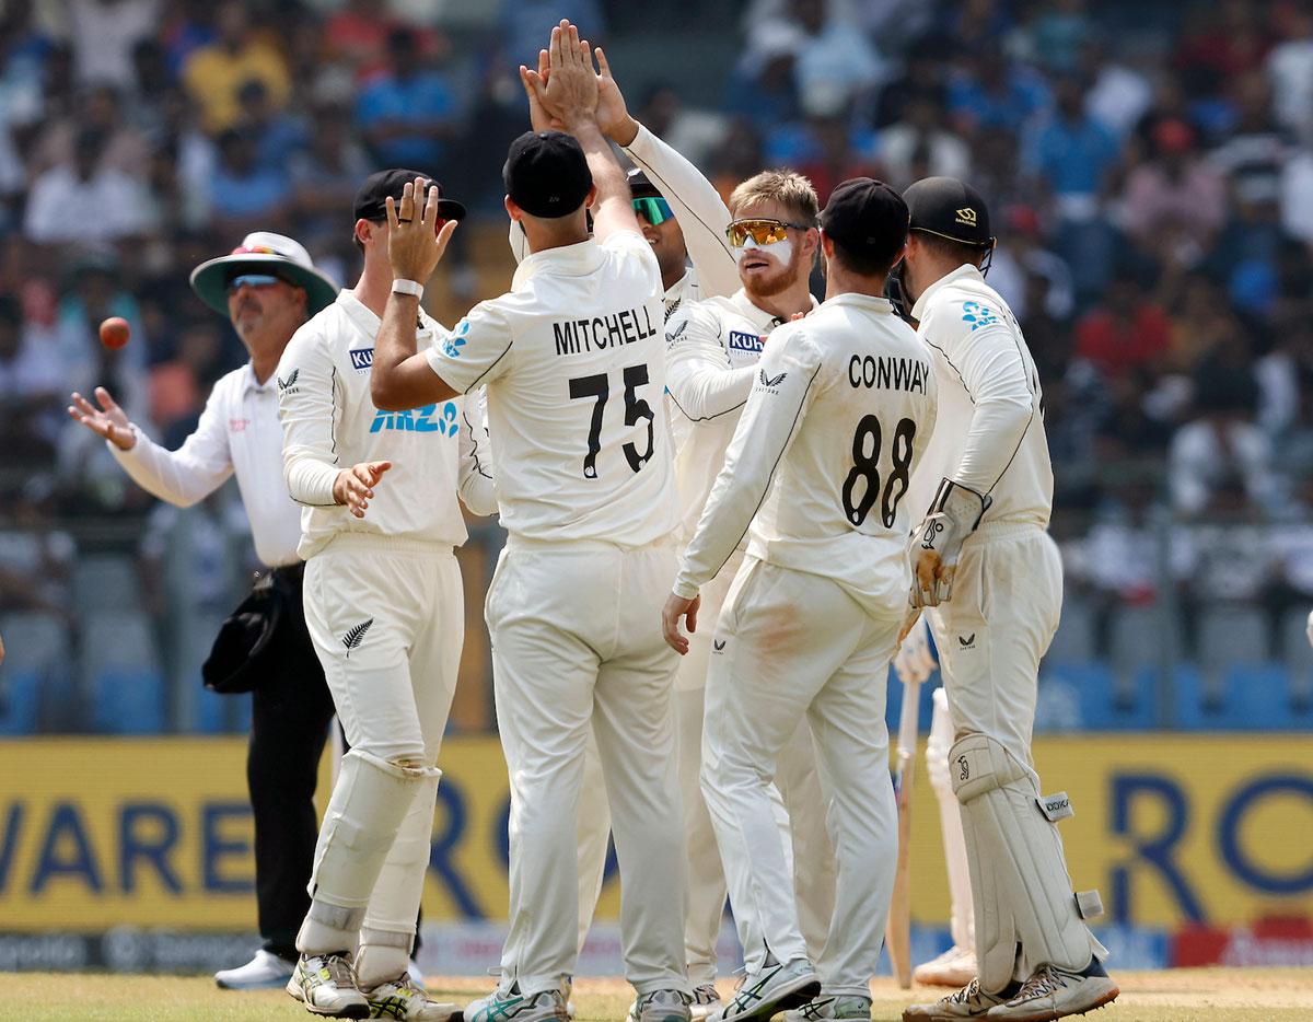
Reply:
[[[310,913],[297,935],[298,950],[316,954],[356,946],[365,906],[402,821],[416,795],[433,791],[441,776],[437,767],[394,763],[358,749],[343,757],[319,830]],[[432,820],[432,803],[428,809]]]

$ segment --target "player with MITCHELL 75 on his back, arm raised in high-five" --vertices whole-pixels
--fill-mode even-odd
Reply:
[[[385,318],[382,407],[486,386],[508,540],[487,596],[498,726],[511,775],[509,935],[471,1022],[565,1019],[578,958],[576,818],[590,728],[605,776],[635,1022],[689,1018],[684,863],[671,679],[656,613],[675,570],[662,280],[625,175],[596,123],[587,43],[562,22],[550,76],[521,70],[570,127],[529,131],[506,162],[506,206],[529,242],[512,290],[448,343],[418,352],[414,305]],[[588,235],[592,208],[593,236]],[[432,202],[407,196],[394,233],[436,263]],[[423,213],[420,211],[423,208]],[[420,243],[423,242],[423,244]],[[386,340],[385,340],[386,339]]]

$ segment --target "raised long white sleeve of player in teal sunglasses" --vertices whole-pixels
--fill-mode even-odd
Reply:
[[[712,183],[685,156],[642,125],[634,141],[625,147],[625,155],[643,169],[679,222],[688,257],[697,268],[700,293],[689,298],[696,301],[737,292],[738,263],[725,236],[730,211]],[[670,293],[666,297],[670,302]]]

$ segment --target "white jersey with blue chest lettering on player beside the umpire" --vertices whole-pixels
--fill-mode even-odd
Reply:
[[[349,290],[301,327],[278,363],[284,477],[301,514],[301,556],[309,560],[339,532],[364,532],[445,546],[465,543],[461,483],[461,402],[379,411],[369,394],[374,338],[382,321]],[[418,347],[442,327],[420,310]],[[365,518],[334,502],[341,469],[391,461]]]

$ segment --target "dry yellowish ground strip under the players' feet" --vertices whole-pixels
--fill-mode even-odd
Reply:
[[[1176,969],[1117,972],[1121,997],[1090,1015],[1091,1022],[1308,1022],[1313,1019],[1313,969]],[[488,979],[435,976],[429,989],[463,1004],[488,989]],[[723,989],[731,989],[725,983]],[[913,992],[916,993],[916,992]],[[579,1022],[620,1022],[632,998],[617,980],[575,984]],[[874,987],[876,1022],[898,1019],[910,1002],[893,981]],[[916,993],[915,1000],[922,1000]],[[232,993],[209,977],[104,973],[0,973],[0,1019],[88,1019],[95,1022],[265,1022],[306,1018],[281,990]]]

